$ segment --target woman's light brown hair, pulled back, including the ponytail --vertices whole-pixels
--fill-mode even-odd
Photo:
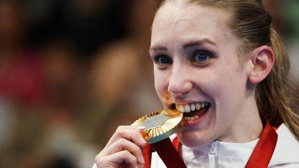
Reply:
[[[171,3],[173,0],[164,0]],[[275,54],[275,64],[271,73],[255,89],[257,107],[260,115],[272,126],[282,122],[299,140],[299,117],[291,85],[287,78],[290,62],[279,35],[271,24],[271,15],[264,9],[261,0],[186,0],[203,6],[232,11],[229,23],[234,34],[242,40],[241,57],[263,45],[268,45]]]

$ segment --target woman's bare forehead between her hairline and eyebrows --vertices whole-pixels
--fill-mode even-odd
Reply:
[[[230,18],[230,12],[219,8],[186,1],[166,3],[154,19],[151,43],[185,41],[199,37],[225,42],[233,36],[228,27]]]

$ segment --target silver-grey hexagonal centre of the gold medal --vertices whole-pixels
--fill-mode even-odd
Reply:
[[[156,128],[158,126],[162,126],[169,117],[165,114],[161,113],[160,115],[155,115],[153,117],[148,117],[141,126],[145,126],[146,129]]]

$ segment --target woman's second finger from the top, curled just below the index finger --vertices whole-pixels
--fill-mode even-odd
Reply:
[[[144,158],[142,155],[142,149],[140,149],[139,146],[134,144],[133,142],[130,142],[126,139],[119,139],[117,142],[114,142],[110,145],[109,148],[105,149],[102,153],[103,156],[109,156],[112,153],[117,153],[119,151],[130,151],[130,153],[133,153],[133,156],[137,158],[137,162],[139,164],[144,164]]]

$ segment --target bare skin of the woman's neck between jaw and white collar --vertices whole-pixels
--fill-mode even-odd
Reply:
[[[248,98],[228,133],[219,137],[222,142],[245,143],[257,140],[262,134],[263,124],[257,109],[255,96]]]

